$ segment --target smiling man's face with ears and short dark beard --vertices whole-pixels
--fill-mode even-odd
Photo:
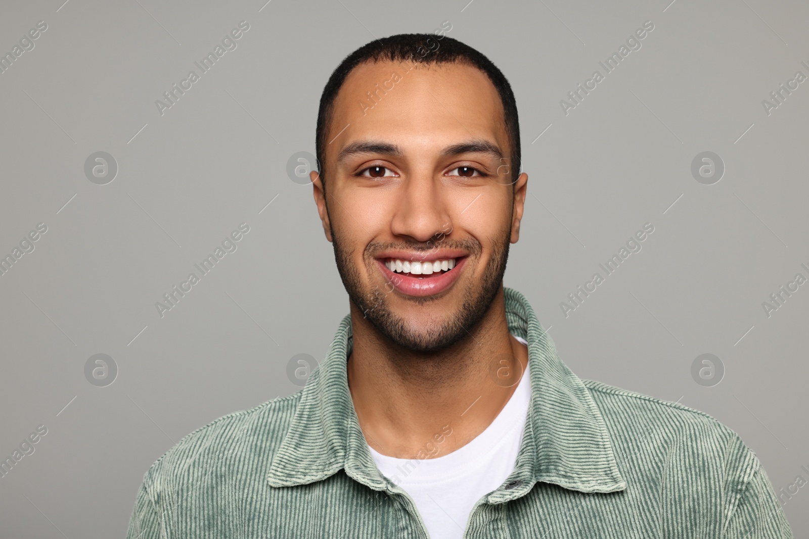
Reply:
[[[359,65],[337,95],[327,141],[325,198],[316,172],[311,179],[351,301],[412,350],[469,335],[501,287],[527,182],[510,175],[489,78],[460,64]]]

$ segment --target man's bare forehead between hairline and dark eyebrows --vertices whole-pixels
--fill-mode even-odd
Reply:
[[[474,138],[508,148],[498,91],[472,65],[366,62],[345,78],[332,110],[329,158],[363,138],[404,147]]]

